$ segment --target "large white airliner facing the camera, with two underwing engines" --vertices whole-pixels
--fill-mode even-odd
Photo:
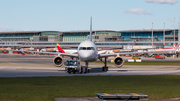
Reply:
[[[2,46],[3,47],[3,46]],[[175,50],[171,50],[175,51]],[[63,57],[71,57],[71,58],[77,58],[83,62],[86,63],[86,66],[88,67],[88,62],[97,61],[97,59],[101,60],[104,58],[104,66],[103,71],[107,71],[108,67],[106,66],[106,59],[108,57],[114,56],[114,65],[118,68],[122,67],[124,64],[124,60],[122,57],[120,57],[121,54],[140,54],[140,53],[153,53],[157,51],[148,51],[148,52],[125,52],[125,53],[107,53],[107,54],[99,54],[96,45],[92,42],[92,18],[90,20],[90,41],[83,41],[79,44],[77,54],[72,53],[60,53],[60,52],[37,52],[37,51],[24,51],[24,52],[35,52],[35,53],[49,53],[49,54],[57,54],[57,56],[54,57],[53,63],[57,67],[61,67],[64,63]],[[161,52],[161,51],[158,51]],[[162,51],[167,52],[167,51]]]

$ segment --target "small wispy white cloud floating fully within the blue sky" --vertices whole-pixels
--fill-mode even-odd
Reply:
[[[126,14],[144,14],[144,15],[152,15],[151,13],[143,10],[143,9],[140,9],[140,8],[132,8],[132,9],[127,9],[125,11]]]

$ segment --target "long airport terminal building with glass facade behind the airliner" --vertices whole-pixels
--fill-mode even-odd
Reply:
[[[77,47],[81,41],[89,40],[90,31],[17,31],[0,32],[4,46],[56,46]],[[98,47],[120,47],[124,45],[173,45],[178,43],[178,29],[166,30],[93,30],[92,41]],[[29,45],[29,44],[28,44]]]

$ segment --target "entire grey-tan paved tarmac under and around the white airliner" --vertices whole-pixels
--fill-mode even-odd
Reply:
[[[54,56],[0,55],[0,77],[48,77],[48,76],[114,76],[114,75],[179,75],[180,66],[132,66],[116,68],[108,65],[103,72],[103,64],[89,63],[90,73],[68,74],[64,66],[53,65]],[[178,59],[179,60],[179,59]]]

